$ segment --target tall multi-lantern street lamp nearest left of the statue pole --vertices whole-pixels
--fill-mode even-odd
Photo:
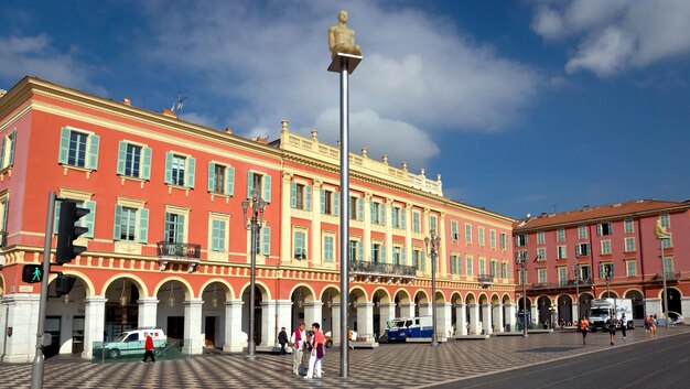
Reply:
[[[251,217],[249,218],[249,223],[247,223],[247,212],[251,206]],[[249,339],[247,342],[247,358],[256,357],[256,343],[254,341],[254,316],[255,316],[255,283],[257,281],[256,270],[257,270],[257,246],[259,240],[259,230],[261,229],[261,224],[263,224],[263,208],[266,207],[266,202],[259,197],[259,190],[255,186],[251,190],[251,205],[248,199],[242,201],[242,214],[245,220],[245,228],[251,230],[251,237],[249,239],[251,245],[251,272],[249,278]]]

